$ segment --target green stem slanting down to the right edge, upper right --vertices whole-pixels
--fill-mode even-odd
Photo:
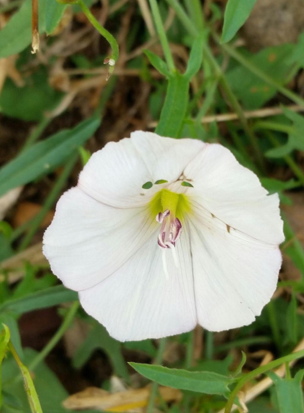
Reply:
[[[228,55],[233,57],[237,62],[245,66],[249,71],[251,71],[257,77],[262,79],[264,82],[268,83],[268,85],[273,86],[276,90],[278,90],[280,93],[288,97],[293,102],[301,106],[304,106],[304,99],[302,97],[298,96],[296,93],[292,92],[292,90],[285,88],[283,85],[273,80],[271,76],[268,76],[261,69],[259,69],[259,67],[255,66],[252,62],[250,62],[248,59],[243,57],[239,52],[237,52],[237,50],[231,47],[229,43],[221,43],[221,38],[216,33],[213,33],[213,37],[214,37],[214,40],[218,43],[218,45],[223,50],[225,50],[225,52],[227,52]]]

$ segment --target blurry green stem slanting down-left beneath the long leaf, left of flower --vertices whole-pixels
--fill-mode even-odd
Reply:
[[[53,186],[48,197],[45,199],[43,207],[40,209],[38,214],[33,218],[31,227],[29,228],[29,232],[26,234],[26,236],[24,237],[24,239],[22,240],[21,244],[18,247],[18,252],[23,251],[31,242],[33,236],[35,235],[36,231],[38,230],[40,226],[40,223],[43,221],[43,218],[48,213],[48,211],[54,204],[55,200],[57,199],[60,191],[62,190],[62,187],[64,183],[66,182],[66,180],[68,179],[69,174],[71,173],[71,170],[73,169],[77,158],[78,158],[78,153],[73,154],[73,156],[66,163],[66,166],[64,166],[64,169],[62,173],[60,174],[57,182]]]

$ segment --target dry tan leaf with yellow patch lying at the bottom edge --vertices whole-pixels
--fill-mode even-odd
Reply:
[[[171,387],[159,387],[159,393],[164,401],[179,401],[181,392]],[[109,393],[96,387],[88,387],[76,394],[72,394],[63,402],[68,409],[83,410],[95,408],[109,412],[134,412],[135,409],[145,407],[150,395],[150,385],[143,389],[130,389],[125,392]]]

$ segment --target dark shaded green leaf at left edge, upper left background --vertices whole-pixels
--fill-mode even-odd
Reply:
[[[24,86],[17,86],[7,78],[0,95],[0,112],[24,121],[40,121],[44,113],[52,110],[62,97],[48,83],[48,71],[40,67],[24,76]]]

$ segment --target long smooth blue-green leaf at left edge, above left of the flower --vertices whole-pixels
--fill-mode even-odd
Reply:
[[[0,169],[0,195],[51,171],[88,140],[96,131],[100,119],[91,117],[73,129],[66,129],[36,143],[21,152]]]

